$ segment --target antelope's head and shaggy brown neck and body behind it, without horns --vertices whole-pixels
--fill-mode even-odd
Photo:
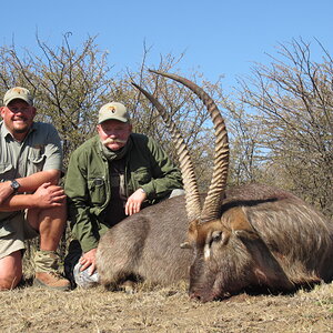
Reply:
[[[249,286],[289,291],[331,281],[333,225],[291,193],[264,185],[231,190],[222,218],[198,225],[190,294],[201,301]]]

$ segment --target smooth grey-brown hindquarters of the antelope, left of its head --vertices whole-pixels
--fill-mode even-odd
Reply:
[[[188,229],[183,195],[127,218],[100,240],[100,283],[117,289],[129,280],[159,285],[188,281],[192,253],[180,246]]]

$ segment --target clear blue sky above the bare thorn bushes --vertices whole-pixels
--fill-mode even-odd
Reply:
[[[268,63],[279,43],[319,39],[333,51],[332,0],[30,0],[1,4],[1,44],[37,49],[36,33],[50,46],[71,32],[72,47],[98,36],[114,71],[139,68],[143,43],[148,63],[160,54],[178,57],[180,72],[198,69],[208,80],[224,74],[223,88],[250,73],[252,62]],[[314,53],[314,58],[316,54]],[[320,61],[320,58],[315,59]]]

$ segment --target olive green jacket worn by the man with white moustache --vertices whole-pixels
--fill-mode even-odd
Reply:
[[[148,195],[148,204],[182,189],[181,172],[152,139],[132,133],[132,149],[125,159],[125,189],[130,196],[139,188]],[[97,248],[109,229],[103,211],[111,198],[109,162],[100,148],[99,135],[84,142],[71,155],[64,190],[73,236],[83,252]]]

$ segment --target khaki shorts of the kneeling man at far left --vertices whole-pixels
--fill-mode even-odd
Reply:
[[[28,223],[23,212],[0,222],[0,259],[16,251],[24,250],[24,240],[37,236],[39,233]]]

